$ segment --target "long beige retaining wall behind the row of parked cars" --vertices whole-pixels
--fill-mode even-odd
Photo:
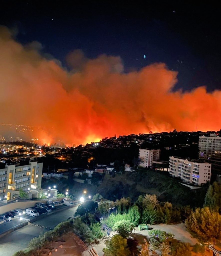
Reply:
[[[58,199],[54,199],[53,201],[61,201],[62,199],[63,198],[58,198]],[[14,210],[16,208],[19,208],[19,209],[31,208],[31,207],[34,207],[37,202],[42,202],[43,204],[45,204],[48,200],[49,199],[18,201],[18,202],[2,205],[2,206],[0,206],[0,214],[3,214],[7,211]]]

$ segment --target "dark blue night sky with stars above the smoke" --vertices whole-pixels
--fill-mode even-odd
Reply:
[[[165,62],[179,72],[175,90],[221,89],[221,13],[215,2],[88,2],[2,1],[0,25],[17,28],[19,42],[41,42],[43,54],[64,66],[71,50],[82,49],[89,58],[120,56],[126,72]]]

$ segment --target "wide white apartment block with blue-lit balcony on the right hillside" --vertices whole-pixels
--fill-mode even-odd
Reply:
[[[169,173],[186,183],[201,185],[210,182],[211,164],[170,156]]]

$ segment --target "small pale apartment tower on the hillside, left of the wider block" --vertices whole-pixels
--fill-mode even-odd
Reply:
[[[139,149],[139,166],[153,166],[153,161],[160,159],[160,149]]]

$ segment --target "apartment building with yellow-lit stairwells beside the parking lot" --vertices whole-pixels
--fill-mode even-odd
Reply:
[[[29,162],[28,165],[5,165],[0,169],[0,199],[10,200],[19,196],[19,189],[41,187],[43,163]]]

